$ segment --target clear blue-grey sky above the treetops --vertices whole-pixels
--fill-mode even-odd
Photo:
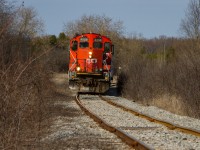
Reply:
[[[18,3],[23,0],[18,0]],[[44,20],[47,34],[58,35],[64,23],[83,15],[106,15],[121,20],[124,33],[145,38],[180,36],[179,26],[189,0],[24,0]]]

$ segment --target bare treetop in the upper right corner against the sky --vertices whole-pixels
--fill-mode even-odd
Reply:
[[[200,37],[200,0],[191,0],[182,19],[180,30],[186,37],[199,39]]]

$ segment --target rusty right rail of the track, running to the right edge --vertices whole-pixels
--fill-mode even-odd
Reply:
[[[136,110],[133,110],[132,108],[128,108],[128,107],[125,107],[123,105],[117,104],[117,103],[115,103],[115,102],[113,102],[111,100],[108,100],[108,98],[105,98],[105,97],[102,97],[102,96],[99,96],[99,97],[102,100],[106,101],[107,103],[109,103],[109,104],[111,104],[113,106],[121,108],[121,109],[123,109],[125,111],[128,111],[128,112],[130,112],[130,113],[132,113],[132,114],[134,114],[136,116],[139,116],[141,118],[147,119],[150,122],[155,122],[155,123],[164,125],[164,126],[168,127],[171,130],[177,130],[177,131],[181,131],[181,132],[186,133],[186,134],[191,134],[191,135],[195,135],[195,136],[200,137],[200,131],[199,130],[183,127],[183,126],[180,126],[180,125],[177,125],[177,124],[165,121],[165,120],[160,120],[160,119],[157,119],[155,117],[152,117],[152,116],[137,112]]]

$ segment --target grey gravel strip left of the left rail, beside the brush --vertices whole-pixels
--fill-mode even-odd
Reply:
[[[56,107],[66,112],[53,118],[51,132],[42,139],[49,143],[46,149],[132,149],[85,115],[74,100],[57,100]]]

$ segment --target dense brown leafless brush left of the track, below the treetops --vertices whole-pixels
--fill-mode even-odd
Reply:
[[[45,54],[0,61],[0,149],[40,147],[50,113],[50,74],[41,61]]]

